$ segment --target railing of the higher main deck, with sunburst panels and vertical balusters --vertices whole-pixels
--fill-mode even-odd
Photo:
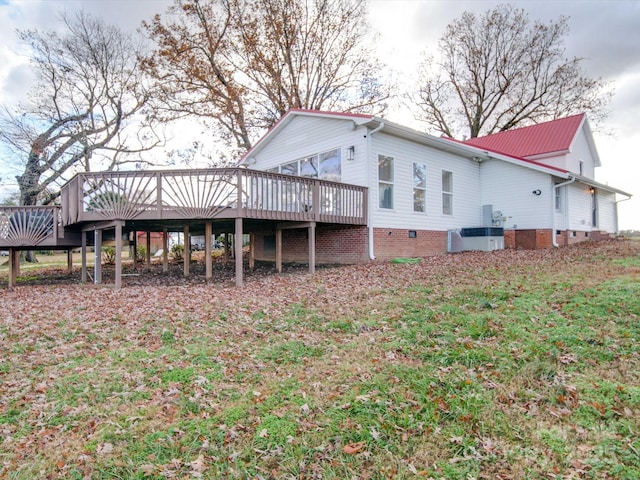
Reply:
[[[100,220],[257,218],[366,224],[366,187],[244,168],[79,173],[63,225]]]

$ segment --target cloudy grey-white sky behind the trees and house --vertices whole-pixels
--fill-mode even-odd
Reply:
[[[94,15],[135,30],[144,19],[162,13],[171,0],[0,0],[0,104],[25,95],[27,58],[15,31],[54,28],[57,12],[84,8]],[[481,13],[500,3],[490,0],[370,0],[370,22],[380,37],[372,44],[383,61],[409,79],[425,50],[435,52],[447,24],[465,11]],[[603,132],[594,132],[603,166],[596,179],[634,194],[619,205],[620,228],[640,229],[640,0],[515,0],[531,19],[569,18],[567,56],[584,58],[593,77],[611,81],[615,96]],[[372,37],[373,38],[373,37]],[[406,112],[388,118],[414,128]],[[16,175],[0,159],[4,188]],[[2,185],[0,185],[2,188]]]

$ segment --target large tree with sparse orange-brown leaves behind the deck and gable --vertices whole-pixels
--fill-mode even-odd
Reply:
[[[366,0],[176,0],[144,27],[165,112],[213,120],[240,153],[290,108],[384,111]]]

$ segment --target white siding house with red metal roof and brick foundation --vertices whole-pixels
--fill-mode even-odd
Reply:
[[[586,118],[543,125],[458,142],[370,115],[291,110],[241,165],[368,188],[367,226],[319,226],[319,261],[442,253],[451,232],[478,227],[502,227],[504,245],[521,248],[616,233],[616,200],[630,195],[593,180]],[[258,234],[258,257],[272,233]],[[302,243],[300,232],[284,239],[289,260],[304,258]]]

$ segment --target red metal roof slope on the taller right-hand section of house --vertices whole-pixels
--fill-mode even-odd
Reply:
[[[583,120],[584,113],[581,113],[486,137],[470,138],[464,143],[521,158],[565,152],[569,150]]]

